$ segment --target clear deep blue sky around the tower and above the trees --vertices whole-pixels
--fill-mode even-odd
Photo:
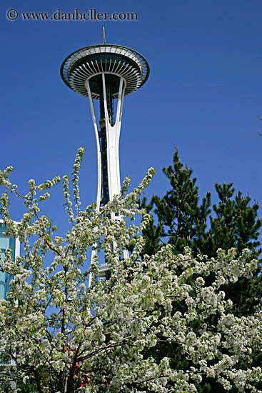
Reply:
[[[136,12],[138,21],[24,21],[22,12]],[[16,9],[15,21],[6,11]],[[124,101],[121,178],[132,185],[155,166],[148,195],[163,195],[161,172],[174,146],[193,167],[200,195],[215,182],[233,181],[262,204],[262,1],[32,1],[1,0],[0,168],[26,192],[71,172],[79,146],[86,147],[81,172],[83,204],[96,200],[96,143],[89,102],[62,81],[62,61],[76,49],[102,41],[143,54],[151,67],[144,86]],[[61,222],[61,188],[49,203]],[[19,220],[17,199],[12,209]],[[261,211],[260,211],[261,212]],[[262,215],[262,214],[261,214]]]

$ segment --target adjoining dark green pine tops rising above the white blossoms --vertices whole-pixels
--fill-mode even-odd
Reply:
[[[258,218],[258,204],[250,205],[251,197],[243,197],[241,191],[236,196],[233,184],[215,184],[218,204],[211,210],[211,193],[208,192],[199,203],[196,177],[191,178],[193,170],[183,166],[178,150],[173,154],[173,166],[163,168],[170,181],[171,189],[160,198],[153,195],[151,202],[146,198],[141,203],[148,212],[157,217],[152,221],[144,236],[145,253],[151,254],[163,243],[171,243],[176,252],[183,252],[189,246],[193,254],[202,252],[215,257],[216,250],[236,247],[238,253],[248,247],[252,256],[261,253],[258,237],[262,220]]]

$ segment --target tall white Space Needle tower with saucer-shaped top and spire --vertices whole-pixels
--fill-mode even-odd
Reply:
[[[61,65],[64,83],[89,98],[97,146],[97,211],[120,193],[119,136],[124,97],[143,86],[148,76],[148,62],[141,54],[126,46],[106,44],[104,26],[103,44],[79,49]],[[99,117],[94,100],[99,100]],[[93,256],[95,252],[92,250]],[[99,276],[104,277],[108,268],[102,265]]]

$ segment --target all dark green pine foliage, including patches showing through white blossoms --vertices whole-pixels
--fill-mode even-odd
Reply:
[[[238,254],[248,247],[251,258],[259,257],[262,220],[258,217],[257,202],[252,205],[249,195],[243,197],[241,191],[236,194],[232,183],[215,184],[218,203],[213,204],[212,208],[210,192],[200,202],[196,177],[192,177],[193,170],[183,166],[177,149],[173,154],[173,165],[163,168],[163,173],[168,177],[171,188],[162,198],[153,195],[149,204],[146,203],[146,197],[141,202],[141,206],[152,215],[151,224],[143,232],[146,239],[145,254],[153,254],[163,244],[170,243],[176,253],[183,252],[186,246],[191,247],[194,257],[198,252],[215,257],[218,248],[227,251],[231,247],[236,247]],[[236,284],[230,283],[221,289],[226,293],[226,298],[233,301],[234,314],[238,317],[253,314],[256,307],[261,307],[261,267],[256,269],[253,278],[241,278]],[[177,303],[177,309],[186,312]],[[210,320],[209,324],[216,324],[216,321]],[[164,340],[160,340],[145,355],[150,356],[151,352],[155,359],[158,353],[160,359],[165,352],[171,359],[173,368],[188,369],[191,366],[181,349],[172,347]],[[261,360],[260,353],[253,354],[253,366],[259,366]],[[246,364],[247,367],[248,365],[250,366]],[[225,392],[220,384],[214,384],[213,379],[208,378],[203,379],[197,389],[199,393]],[[236,390],[232,392],[235,393]]]

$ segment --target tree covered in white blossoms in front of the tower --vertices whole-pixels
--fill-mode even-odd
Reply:
[[[74,164],[74,206],[69,176],[63,177],[71,223],[64,238],[54,236],[57,228],[39,208],[59,177],[39,186],[30,180],[29,193],[21,196],[9,181],[12,168],[0,172],[6,232],[24,244],[22,257],[13,262],[9,249],[1,261],[1,271],[14,274],[7,299],[0,303],[1,359],[16,364],[2,367],[2,390],[16,391],[22,382],[39,393],[191,393],[208,377],[231,392],[262,392],[262,369],[251,357],[261,349],[261,310],[236,317],[221,290],[238,277],[250,277],[258,261],[249,260],[248,249],[240,257],[234,249],[219,249],[211,259],[191,257],[188,248],[175,255],[171,244],[139,257],[141,232],[150,216],[138,208],[137,199],[153,169],[129,194],[126,179],[121,194],[100,212],[95,205],[81,210],[83,154],[79,149]],[[26,205],[19,225],[9,215],[9,192]],[[122,219],[112,219],[114,214]],[[140,225],[126,223],[139,214]],[[94,245],[98,254],[89,267],[86,252]],[[123,250],[130,246],[133,251],[124,259]],[[107,280],[96,280],[99,252],[111,265]],[[89,274],[94,279],[87,288]],[[172,367],[178,354],[186,368]],[[10,387],[10,381],[17,387]]]

